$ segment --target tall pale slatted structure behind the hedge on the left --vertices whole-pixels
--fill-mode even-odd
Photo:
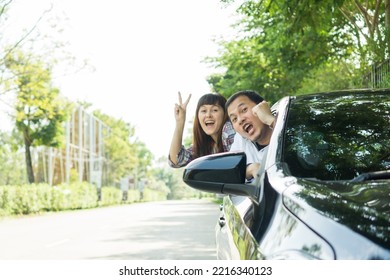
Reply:
[[[100,188],[108,180],[103,141],[109,127],[82,107],[72,112],[65,125],[63,149],[32,149],[36,181],[50,185],[87,181]]]

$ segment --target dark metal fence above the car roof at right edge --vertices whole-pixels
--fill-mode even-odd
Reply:
[[[390,87],[390,59],[372,66],[371,72],[363,77],[366,88]]]

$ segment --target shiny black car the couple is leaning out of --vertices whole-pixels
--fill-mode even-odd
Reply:
[[[244,153],[191,162],[184,181],[225,194],[218,259],[390,259],[390,89],[284,97],[260,179]]]

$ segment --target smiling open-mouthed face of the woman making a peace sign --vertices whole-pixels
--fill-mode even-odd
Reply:
[[[202,105],[198,111],[200,126],[215,142],[218,139],[218,131],[223,125],[224,114],[223,108],[219,105]]]

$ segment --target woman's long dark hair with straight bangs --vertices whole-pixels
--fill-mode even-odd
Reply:
[[[223,97],[219,93],[207,93],[203,95],[199,101],[198,105],[196,107],[196,113],[195,113],[195,120],[194,120],[194,128],[193,128],[193,141],[192,141],[192,157],[193,159],[210,155],[215,152],[221,153],[223,152],[223,145],[222,145],[222,128],[226,121],[228,120],[226,111],[225,111],[225,104],[226,104],[226,98]],[[203,105],[219,105],[221,106],[221,109],[224,112],[223,116],[223,122],[221,127],[218,130],[218,141],[217,143],[214,142],[213,138],[210,135],[207,135],[199,123],[198,118],[198,112],[201,106]],[[213,149],[216,145],[217,149],[216,151]]]

